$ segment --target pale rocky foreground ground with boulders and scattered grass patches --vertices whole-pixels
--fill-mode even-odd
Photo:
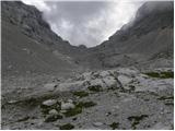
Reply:
[[[173,72],[118,68],[69,79],[44,76],[37,84],[33,78],[19,88],[24,81],[14,85],[9,80],[11,90],[2,92],[2,129],[173,130]]]

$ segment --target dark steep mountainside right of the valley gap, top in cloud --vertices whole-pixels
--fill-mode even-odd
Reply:
[[[115,68],[173,58],[173,2],[145,2],[132,22],[124,25],[108,40],[91,48],[85,56],[88,62],[82,62],[92,66],[89,60],[94,60],[95,68]]]

